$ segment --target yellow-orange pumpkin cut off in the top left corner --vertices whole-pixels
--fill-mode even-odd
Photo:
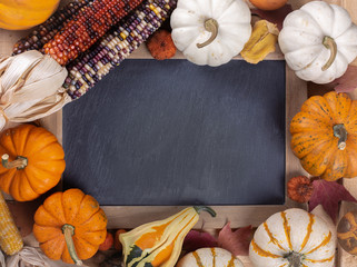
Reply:
[[[42,23],[57,9],[59,0],[2,0],[0,28],[24,30]]]

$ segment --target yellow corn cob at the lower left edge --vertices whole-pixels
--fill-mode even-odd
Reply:
[[[23,243],[19,229],[13,222],[6,200],[0,191],[0,247],[7,255],[21,250]]]

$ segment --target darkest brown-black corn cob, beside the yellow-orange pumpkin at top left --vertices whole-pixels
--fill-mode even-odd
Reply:
[[[40,50],[44,43],[50,41],[63,26],[72,19],[72,17],[92,2],[92,0],[75,0],[56,11],[47,21],[36,27],[36,29],[27,37],[19,40],[13,47],[12,55],[19,55],[29,50]]]

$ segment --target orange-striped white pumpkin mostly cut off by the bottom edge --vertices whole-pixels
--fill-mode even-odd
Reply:
[[[187,254],[176,267],[244,267],[241,261],[222,248],[200,248]]]

